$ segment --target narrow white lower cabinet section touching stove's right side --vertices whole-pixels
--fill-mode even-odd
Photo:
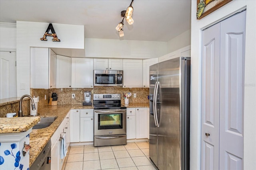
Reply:
[[[126,109],[126,139],[136,138],[135,108]]]

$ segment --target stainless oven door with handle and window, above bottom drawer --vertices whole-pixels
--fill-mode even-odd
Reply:
[[[126,109],[94,110],[94,136],[126,134]]]

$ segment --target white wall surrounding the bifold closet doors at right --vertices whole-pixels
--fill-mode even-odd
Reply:
[[[191,147],[190,169],[200,170],[201,156],[201,29],[246,10],[244,84],[244,170],[256,167],[256,1],[233,0],[201,20],[196,20],[196,0],[191,4]]]

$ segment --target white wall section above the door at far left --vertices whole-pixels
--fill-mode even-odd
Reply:
[[[16,23],[0,23],[0,51],[16,51]]]

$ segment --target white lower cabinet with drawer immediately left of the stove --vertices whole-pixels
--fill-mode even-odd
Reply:
[[[80,142],[91,142],[94,139],[94,110],[80,109]]]

